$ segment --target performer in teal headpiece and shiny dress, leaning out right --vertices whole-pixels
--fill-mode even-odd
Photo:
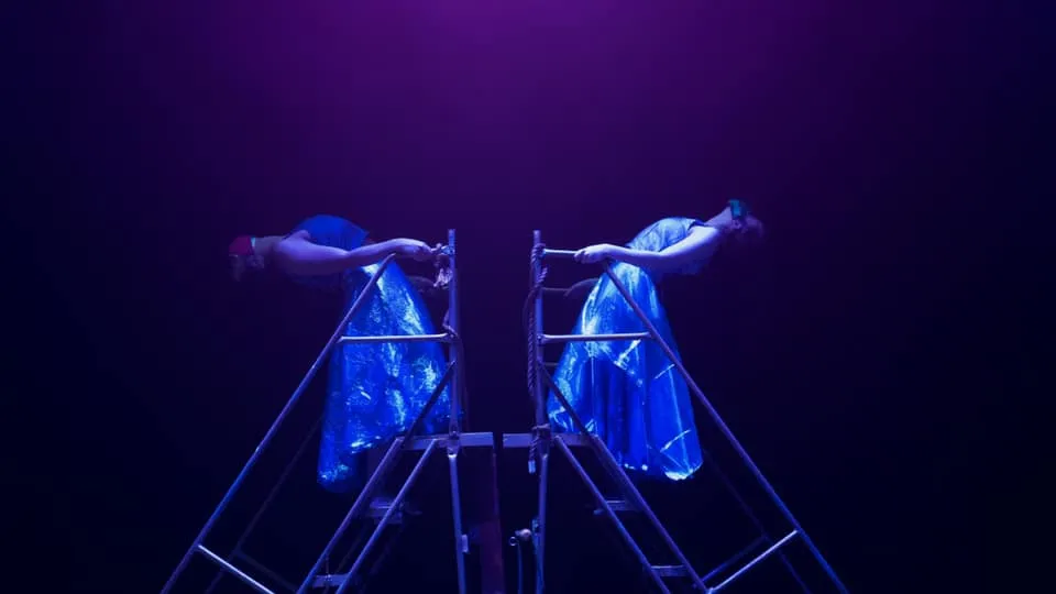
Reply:
[[[575,253],[584,263],[610,260],[613,273],[678,354],[657,287],[668,274],[696,274],[721,250],[762,237],[762,223],[744,202],[707,221],[673,217],[639,232],[625,246],[598,244]],[[608,275],[590,280],[572,330],[574,334],[645,332],[638,315]],[[703,463],[689,386],[651,340],[570,342],[553,374],[587,430],[600,436],[616,460],[636,474],[679,481]],[[552,394],[554,431],[575,431],[571,416]]]

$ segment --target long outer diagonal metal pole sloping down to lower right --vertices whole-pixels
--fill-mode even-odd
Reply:
[[[784,501],[778,495],[778,492],[774,491],[773,486],[767,481],[767,477],[762,475],[762,471],[759,470],[759,466],[756,465],[755,461],[751,460],[751,457],[748,455],[748,452],[745,448],[737,441],[737,438],[734,437],[734,432],[729,430],[729,427],[723,421],[723,418],[719,417],[718,411],[715,410],[715,407],[712,406],[712,403],[704,396],[704,392],[701,389],[696,382],[693,381],[693,377],[690,375],[690,372],[685,369],[685,365],[682,364],[682,361],[674,354],[674,351],[671,349],[657,330],[657,327],[649,321],[649,317],[646,316],[646,312],[641,309],[635,299],[630,296],[630,293],[627,290],[627,287],[624,286],[623,282],[616,277],[616,273],[613,272],[612,264],[605,265],[605,273],[608,274],[608,277],[613,279],[613,285],[616,286],[616,289],[619,290],[619,294],[624,296],[624,299],[627,300],[627,304],[635,310],[635,314],[638,315],[638,318],[641,320],[641,323],[646,327],[646,330],[652,334],[653,340],[657,341],[657,344],[660,345],[660,349],[663,350],[663,353],[668,355],[668,359],[671,360],[671,364],[679,370],[679,373],[682,374],[682,378],[685,380],[686,385],[696,396],[696,399],[704,405],[704,408],[707,409],[708,415],[712,416],[712,419],[718,426],[718,429],[726,436],[726,439],[729,440],[729,443],[734,447],[740,458],[745,461],[745,464],[748,465],[748,469],[751,470],[751,473],[755,474],[756,480],[759,481],[759,484],[767,491],[770,495],[770,498],[773,499],[773,503],[777,504],[778,508],[784,515],[785,519],[789,520],[789,524],[794,528],[794,532],[799,534],[803,539],[803,542],[807,546],[811,552],[814,554],[814,558],[817,560],[818,564],[822,565],[822,569],[825,570],[825,573],[828,574],[828,578],[833,581],[837,588],[840,592],[847,592],[847,587],[844,586],[844,583],[836,575],[836,571],[828,564],[828,561],[822,556],[822,551],[814,546],[814,542],[806,536],[806,532],[803,530],[803,527],[800,526],[800,522],[795,519],[795,516],[792,515],[792,510],[784,504]]]

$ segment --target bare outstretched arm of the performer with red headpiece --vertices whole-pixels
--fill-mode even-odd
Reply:
[[[354,250],[341,250],[312,243],[305,234],[294,234],[275,246],[272,262],[287,274],[321,276],[367,266],[391,254],[428,260],[432,257],[432,250],[425,242],[408,239],[372,243]]]

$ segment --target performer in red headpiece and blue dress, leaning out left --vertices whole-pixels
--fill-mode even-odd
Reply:
[[[231,243],[232,273],[275,268],[290,279],[343,294],[345,311],[386,256],[432,260],[437,248],[411,239],[370,242],[355,224],[331,216],[311,217],[288,235],[241,237]],[[393,263],[345,336],[432,334],[421,296]],[[447,367],[435,342],[340,344],[329,364],[318,480],[329,491],[362,486],[366,461],[360,455],[405,431],[421,411]],[[446,388],[425,419],[426,433],[443,432],[450,415]]]

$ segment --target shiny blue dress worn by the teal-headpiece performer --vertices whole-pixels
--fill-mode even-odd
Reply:
[[[686,218],[662,219],[627,246],[659,252],[683,240],[697,224],[704,223]],[[680,272],[692,274],[698,270],[700,266],[691,266]],[[657,296],[659,275],[628,264],[616,264],[613,272],[678,354],[667,314]],[[634,309],[604,275],[583,304],[572,333],[645,331]],[[616,460],[635,474],[679,481],[703,463],[689,386],[653,341],[570,342],[553,378],[587,430],[601,437]],[[576,430],[552,393],[548,413],[554,431]]]

